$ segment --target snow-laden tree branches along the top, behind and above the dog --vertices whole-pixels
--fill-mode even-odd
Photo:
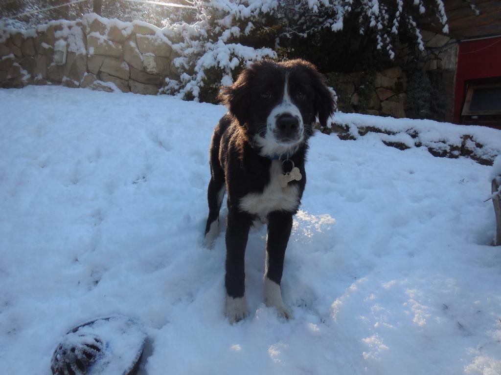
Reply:
[[[335,38],[347,22],[356,22],[361,35],[375,35],[376,49],[394,59],[394,45],[402,32],[413,35],[424,51],[417,19],[425,12],[434,12],[443,31],[448,30],[442,0],[196,0],[193,4],[194,22],[166,23],[171,38],[178,40],[174,63],[181,73],[180,81],[168,81],[166,92],[195,100],[213,100],[220,85],[231,84],[253,61],[278,58],[281,41],[287,44],[292,37],[306,42],[327,30]],[[274,45],[260,45],[256,33],[272,24]]]

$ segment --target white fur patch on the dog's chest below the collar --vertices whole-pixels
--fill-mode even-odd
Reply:
[[[278,179],[280,173],[282,173],[282,161],[272,160],[270,182],[262,193],[251,192],[243,196],[239,203],[240,209],[259,215],[261,218],[266,218],[272,211],[295,210],[299,203],[299,187],[296,184],[281,187]]]

